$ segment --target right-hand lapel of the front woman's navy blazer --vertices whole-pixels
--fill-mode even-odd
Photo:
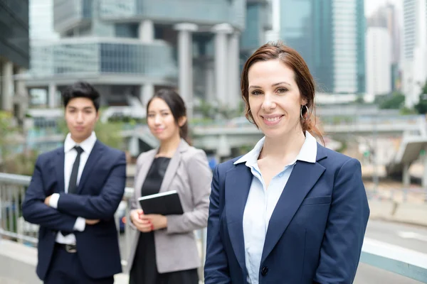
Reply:
[[[324,151],[317,146],[317,160],[325,157]],[[324,171],[325,167],[320,165],[320,163],[297,161],[268,223],[261,263],[265,261],[265,258],[273,250],[275,244],[277,244],[286,228],[288,228],[297,209],[300,208],[305,196],[310,192]]]

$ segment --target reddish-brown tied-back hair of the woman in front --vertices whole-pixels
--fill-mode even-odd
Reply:
[[[251,109],[249,107],[249,68],[251,68],[255,62],[267,60],[280,60],[280,62],[283,62],[283,64],[293,70],[295,73],[295,82],[297,83],[298,89],[300,90],[300,94],[307,102],[307,104],[305,104],[306,107],[302,106],[301,111],[302,116],[300,117],[300,123],[302,131],[308,131],[313,136],[317,136],[317,138],[322,141],[323,145],[325,145],[322,131],[320,131],[320,129],[318,129],[316,126],[315,80],[310,74],[310,70],[308,69],[307,64],[305,63],[302,56],[297,53],[296,50],[284,45],[283,43],[266,43],[265,45],[258,48],[258,50],[256,50],[255,53],[251,55],[251,57],[243,66],[241,76],[241,92],[243,100],[246,104],[246,118],[255,124]]]

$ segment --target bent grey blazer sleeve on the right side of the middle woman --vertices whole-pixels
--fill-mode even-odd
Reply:
[[[185,233],[206,227],[209,213],[209,186],[212,171],[208,159],[202,150],[197,150],[187,165],[189,186],[193,196],[194,210],[181,215],[167,216],[167,233]]]

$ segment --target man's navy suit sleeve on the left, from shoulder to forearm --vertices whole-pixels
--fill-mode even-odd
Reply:
[[[41,158],[38,157],[33,177],[22,204],[23,219],[56,231],[73,231],[77,215],[64,214],[44,204],[46,189],[44,188],[43,166],[41,164]]]

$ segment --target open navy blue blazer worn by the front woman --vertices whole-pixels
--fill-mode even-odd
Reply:
[[[243,209],[253,175],[238,158],[214,171],[205,284],[247,283]],[[317,144],[297,161],[271,216],[259,283],[352,283],[369,218],[358,160]]]

